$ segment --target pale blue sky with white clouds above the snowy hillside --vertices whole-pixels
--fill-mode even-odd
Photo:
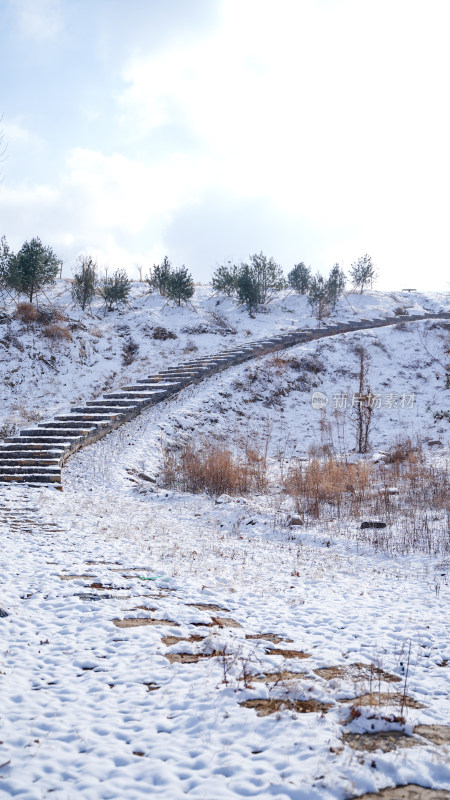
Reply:
[[[448,0],[0,0],[0,235],[448,289]]]

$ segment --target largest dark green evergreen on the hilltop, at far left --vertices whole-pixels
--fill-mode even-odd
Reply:
[[[30,303],[43,286],[54,283],[62,265],[51,247],[43,245],[38,237],[25,242],[16,256],[8,259],[6,285],[26,294]]]

